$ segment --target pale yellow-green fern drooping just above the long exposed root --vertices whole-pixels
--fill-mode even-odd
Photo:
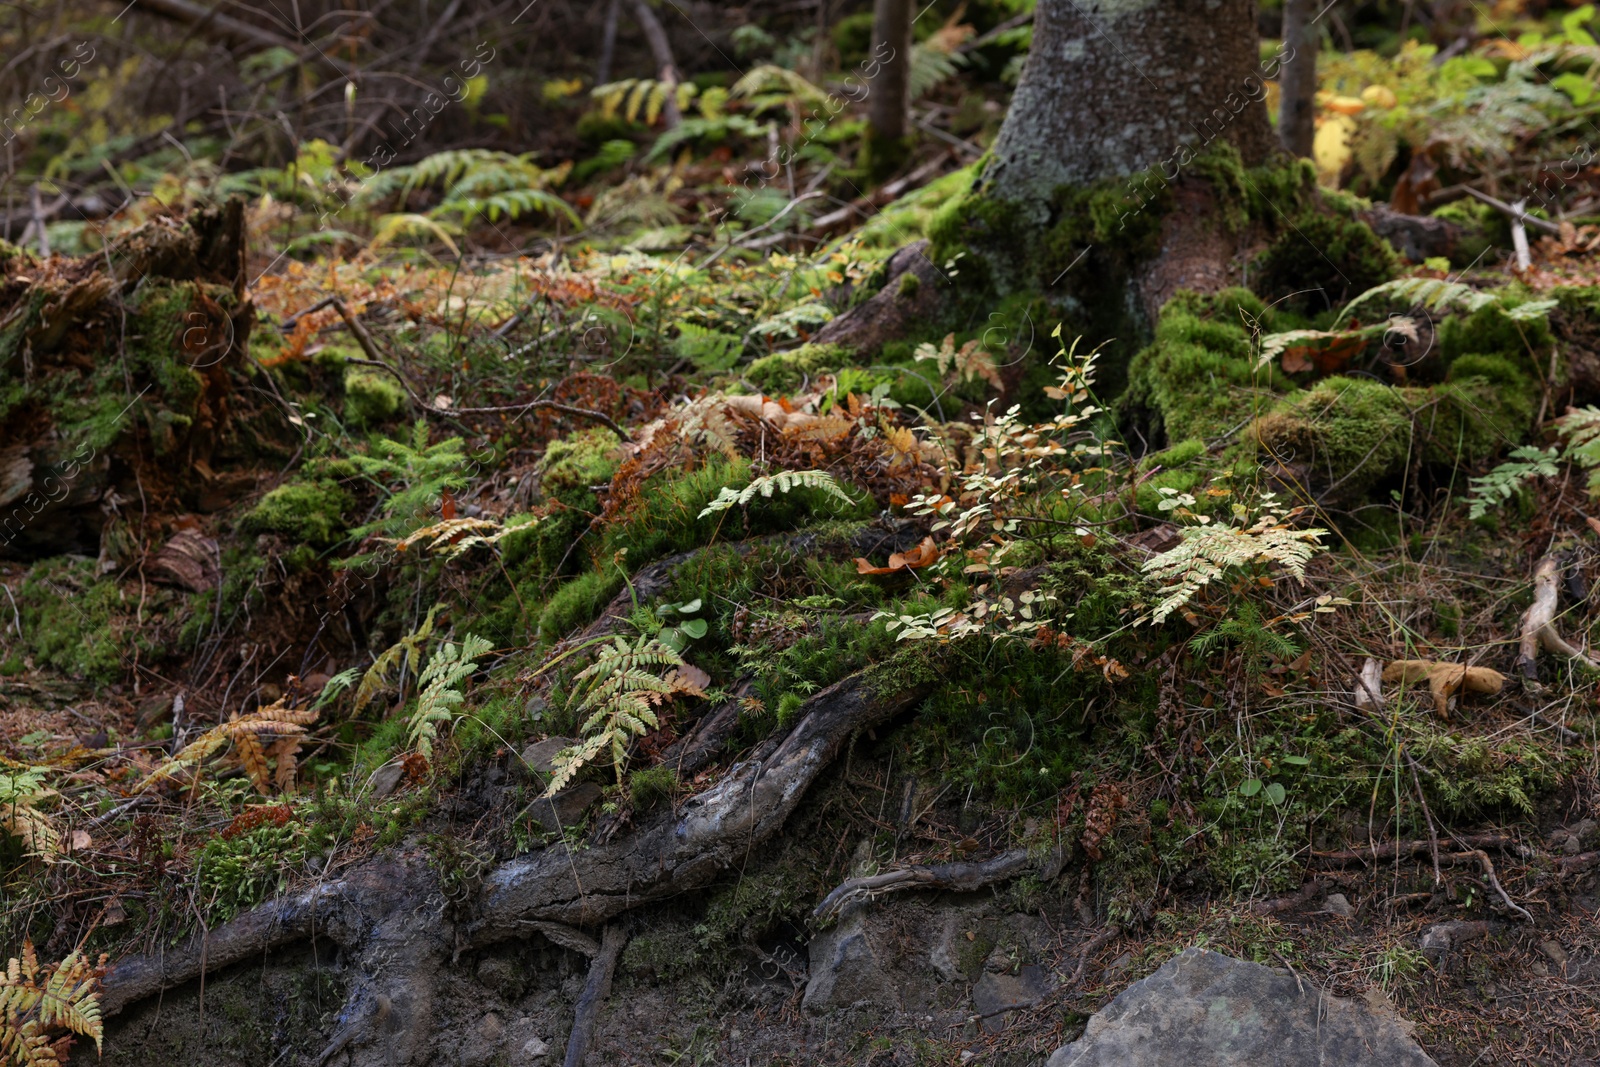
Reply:
[[[672,672],[662,675],[664,667]],[[640,637],[629,645],[619,637],[603,646],[576,678],[581,686],[587,686],[574,709],[576,717],[587,715],[581,726],[582,741],[563,749],[550,761],[554,774],[544,795],[566,789],[578,771],[606,749],[611,750],[611,765],[621,784],[627,769],[629,742],[661,726],[654,709],[677,693],[704,696],[688,680],[683,667],[683,659],[654,638]]]

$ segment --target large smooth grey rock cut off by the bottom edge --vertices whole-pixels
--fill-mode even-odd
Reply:
[[[1125,989],[1046,1067],[1434,1067],[1410,1024],[1259,963],[1189,949]]]

